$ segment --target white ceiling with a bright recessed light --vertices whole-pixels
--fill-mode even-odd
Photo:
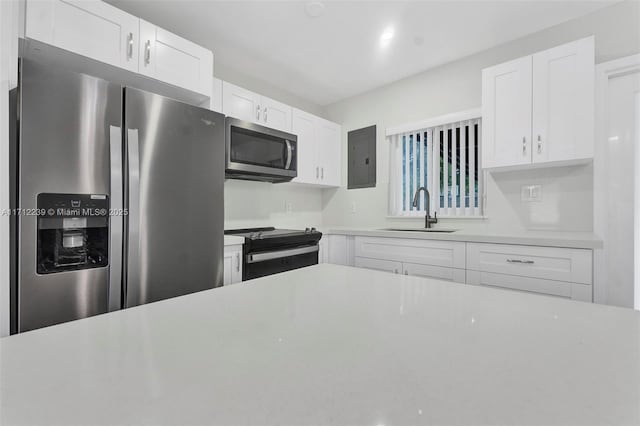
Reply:
[[[227,69],[318,105],[615,3],[323,1],[322,15],[311,17],[308,1],[107,1],[211,49]]]

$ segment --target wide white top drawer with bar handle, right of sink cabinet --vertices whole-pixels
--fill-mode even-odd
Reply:
[[[467,270],[592,283],[592,252],[584,249],[467,244]]]

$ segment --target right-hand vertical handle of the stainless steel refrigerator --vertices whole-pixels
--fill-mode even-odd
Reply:
[[[125,307],[143,299],[140,283],[140,151],[138,129],[127,129],[129,162],[129,207],[127,219],[127,283]]]

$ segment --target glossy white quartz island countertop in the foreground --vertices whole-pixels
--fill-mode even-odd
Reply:
[[[0,424],[637,425],[640,313],[317,265],[0,339]]]

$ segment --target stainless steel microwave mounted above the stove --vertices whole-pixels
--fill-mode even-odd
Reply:
[[[287,182],[298,175],[298,138],[248,121],[225,119],[228,179]]]

